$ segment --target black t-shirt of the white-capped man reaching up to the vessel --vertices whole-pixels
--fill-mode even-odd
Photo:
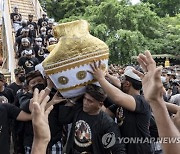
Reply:
[[[134,112],[112,105],[109,109],[116,115],[122,137],[150,137],[151,110],[141,95],[134,96],[136,109]],[[148,143],[126,144],[127,154],[152,154]]]

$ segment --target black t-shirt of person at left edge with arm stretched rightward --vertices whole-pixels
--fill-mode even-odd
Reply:
[[[9,154],[9,119],[16,119],[20,109],[9,103],[0,103],[0,153]]]

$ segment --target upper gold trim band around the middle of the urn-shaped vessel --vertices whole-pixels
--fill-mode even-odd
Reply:
[[[56,67],[54,69],[45,70],[45,73],[47,75],[53,75],[53,74],[56,74],[58,72],[67,71],[68,69],[73,69],[75,67],[83,66],[85,64],[87,64],[87,65],[91,64],[94,60],[99,61],[99,60],[105,60],[108,58],[109,58],[109,54],[101,55],[99,57],[91,57],[89,59],[84,59],[84,60],[78,61],[76,63],[68,64],[68,65],[61,66],[61,67]]]

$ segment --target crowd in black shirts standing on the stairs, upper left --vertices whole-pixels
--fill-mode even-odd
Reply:
[[[53,19],[48,19],[46,13],[37,23],[33,21],[33,15],[29,14],[27,20],[22,20],[18,8],[14,7],[11,13],[12,25],[15,32],[14,51],[18,65],[28,73],[35,70],[35,66],[41,63],[49,54],[47,47],[57,43],[53,36]]]

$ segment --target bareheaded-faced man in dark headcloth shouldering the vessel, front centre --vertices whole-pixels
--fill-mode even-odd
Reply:
[[[118,126],[101,111],[106,94],[97,85],[88,85],[83,103],[60,106],[61,123],[72,123],[66,153],[125,154],[124,144],[119,142]],[[110,142],[108,141],[108,137]]]

